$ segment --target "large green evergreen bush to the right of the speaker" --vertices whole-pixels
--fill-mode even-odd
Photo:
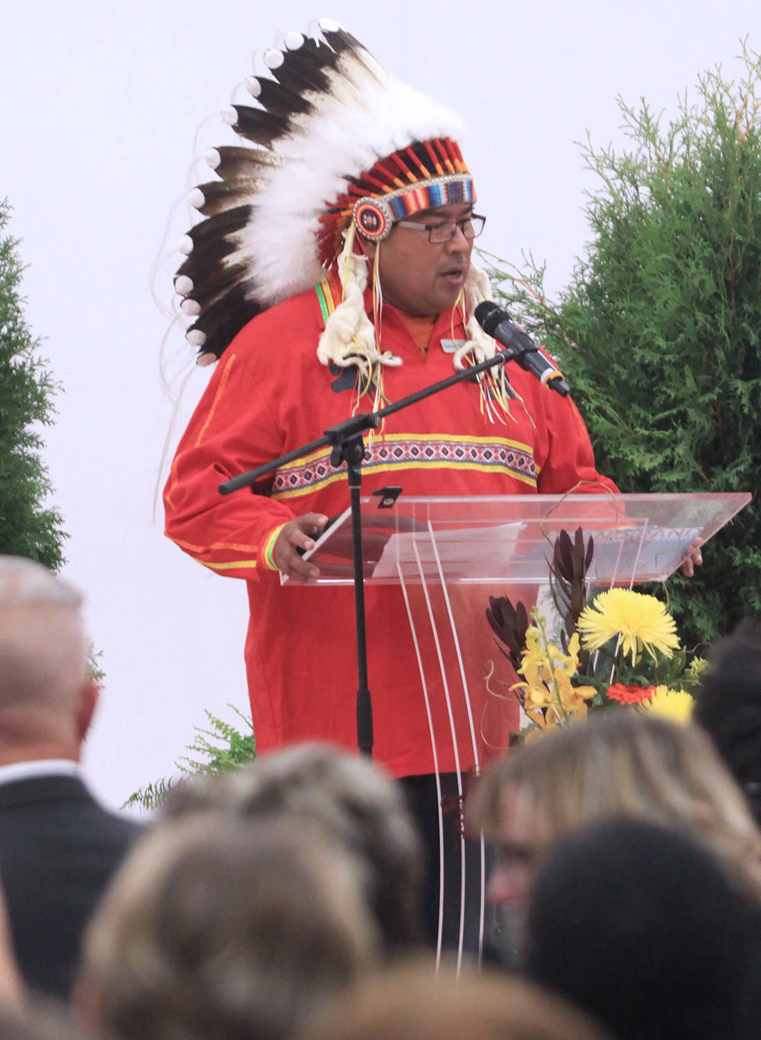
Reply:
[[[558,358],[602,472],[627,492],[757,492],[761,483],[761,58],[716,69],[661,126],[619,99],[631,147],[582,146],[601,184],[593,239],[557,303],[545,267],[493,258],[497,296]],[[688,647],[761,609],[753,504],[708,546],[670,610]]]

